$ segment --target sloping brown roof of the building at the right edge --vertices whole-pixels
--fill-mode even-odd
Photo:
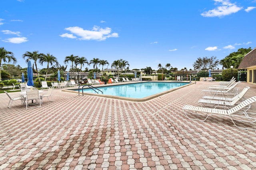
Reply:
[[[238,69],[246,69],[252,66],[256,66],[256,48],[244,55]]]

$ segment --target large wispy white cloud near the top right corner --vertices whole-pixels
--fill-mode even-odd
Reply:
[[[214,8],[213,10],[209,10],[203,12],[201,15],[204,17],[221,17],[236,13],[242,10],[242,7],[237,6],[236,4],[232,4],[229,0],[214,0],[216,5],[220,3],[219,6]]]

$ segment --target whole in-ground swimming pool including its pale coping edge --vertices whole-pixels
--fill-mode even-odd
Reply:
[[[159,82],[159,81],[146,81],[141,83],[116,83],[114,85],[104,85],[96,87],[103,94],[92,89],[83,89],[83,94],[97,95],[102,97],[109,97],[115,99],[124,99],[129,101],[146,101],[154,97],[169,93],[175,89],[179,89],[191,83],[186,82]],[[74,89],[78,92],[78,89]],[[80,95],[82,95],[82,86],[80,87]]]

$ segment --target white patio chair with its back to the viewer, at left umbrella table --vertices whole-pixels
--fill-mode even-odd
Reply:
[[[29,106],[29,101],[32,101],[30,105],[34,107],[28,107]],[[36,103],[34,103],[36,101]],[[39,105],[39,106],[38,106]],[[27,90],[26,91],[26,109],[32,109],[36,107],[41,107],[41,98],[38,89],[36,90]]]

